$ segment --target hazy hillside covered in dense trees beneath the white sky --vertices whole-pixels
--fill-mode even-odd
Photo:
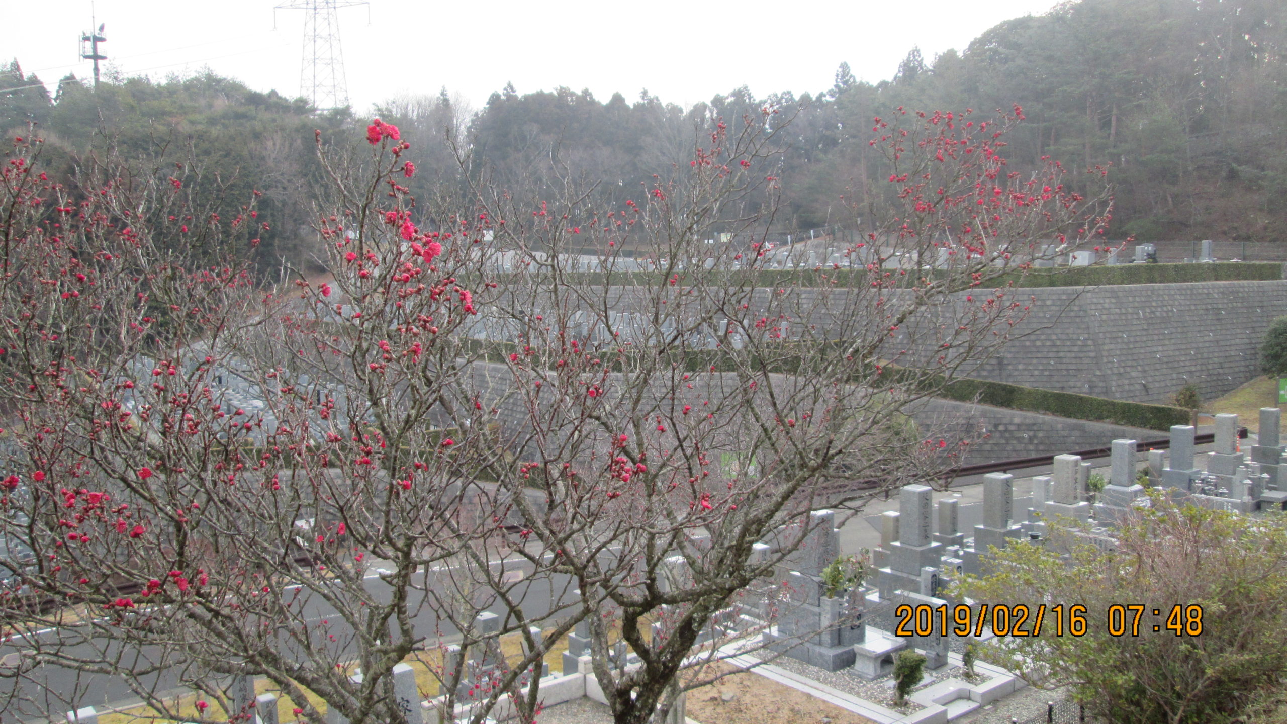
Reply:
[[[852,228],[879,215],[888,170],[869,147],[874,117],[986,116],[1019,106],[1026,122],[1008,137],[1010,167],[1023,173],[1042,156],[1077,170],[1108,166],[1113,237],[1284,241],[1284,22],[1281,0],[1081,0],[1006,21],[938,58],[912,49],[891,80],[858,81],[842,66],[831,88],[799,97],[740,88],[681,108],[647,91],[602,102],[566,88],[506,86],[476,111],[444,91],[391,99],[376,112],[412,143],[421,173],[408,184],[422,198],[459,183],[463,171],[538,195],[571,179],[624,200],[653,174],[686,165],[709,124],[723,119],[736,131],[771,108],[764,122],[781,131],[781,156],[766,173],[784,179],[777,225],[794,229]],[[914,27],[906,35],[914,39]],[[320,173],[314,129],[360,143],[350,113],[319,117],[302,100],[210,73],[115,79],[98,90],[75,79],[51,93],[28,88],[39,82],[17,61],[0,72],[0,89],[22,89],[0,91],[0,129],[41,124],[64,170],[113,146],[140,164],[185,164],[189,174],[199,158],[203,178],[193,180],[212,198],[243,198],[252,187],[265,193],[261,207],[275,224],[264,234],[265,264],[309,255],[310,188]]]

